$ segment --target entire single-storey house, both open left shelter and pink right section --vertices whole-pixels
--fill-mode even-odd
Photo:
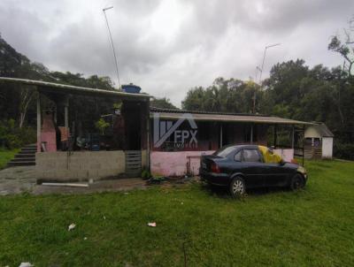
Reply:
[[[197,174],[200,156],[235,143],[304,155],[304,121],[150,108],[150,95],[2,78],[37,94],[35,170],[41,180]],[[19,87],[20,88],[20,87]]]

